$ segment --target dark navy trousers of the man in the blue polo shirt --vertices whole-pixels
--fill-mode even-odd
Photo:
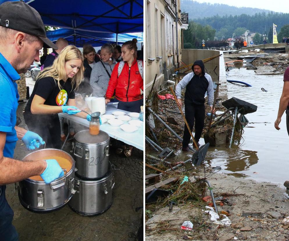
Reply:
[[[6,186],[0,186],[0,240],[18,240],[18,233],[12,225],[14,212],[5,197]]]

